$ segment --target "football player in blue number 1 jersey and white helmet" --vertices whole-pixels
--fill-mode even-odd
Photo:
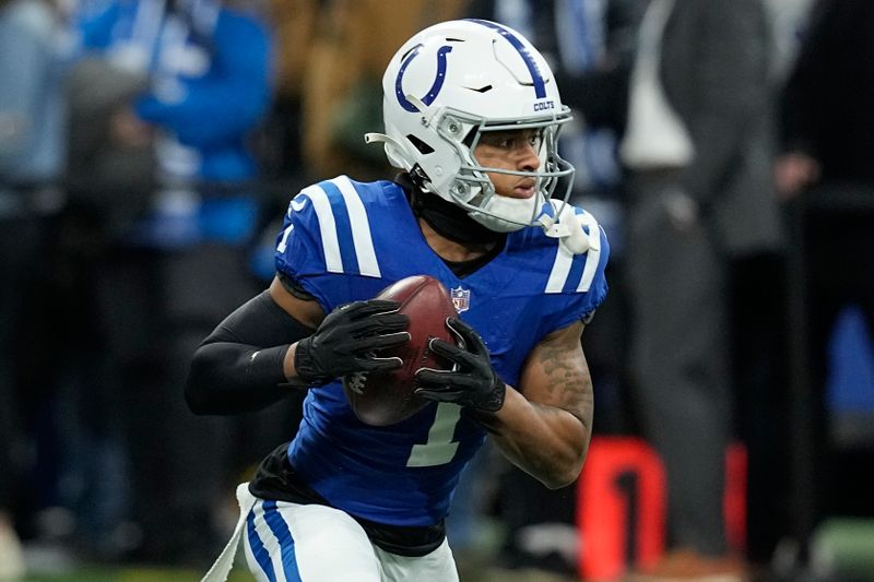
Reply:
[[[205,580],[224,580],[238,539],[258,580],[454,581],[445,534],[459,474],[486,437],[546,487],[586,459],[592,385],[581,333],[603,301],[609,244],[566,203],[556,151],[570,119],[540,52],[500,24],[436,24],[389,62],[383,143],[393,180],[347,176],[303,189],[277,235],[276,276],[193,354],[197,414],[259,409],[307,389],[294,439],[237,489],[240,521]],[[374,299],[426,274],[452,290],[454,364],[420,369],[430,403],[375,427],[343,378],[393,369],[408,341],[398,304]]]

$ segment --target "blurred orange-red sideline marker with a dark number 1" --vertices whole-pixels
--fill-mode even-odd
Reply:
[[[634,437],[595,437],[580,476],[580,573],[617,580],[664,553],[665,475],[656,451]]]

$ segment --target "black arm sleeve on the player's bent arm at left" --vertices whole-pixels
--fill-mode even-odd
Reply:
[[[291,395],[283,359],[314,330],[265,290],[225,318],[194,351],[185,397],[194,414],[240,414]]]

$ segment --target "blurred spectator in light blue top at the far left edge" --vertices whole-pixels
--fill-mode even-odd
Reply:
[[[31,302],[48,259],[49,218],[62,204],[66,155],[60,14],[49,1],[0,1],[0,580],[24,573],[13,523],[22,483],[22,337],[38,313]]]

